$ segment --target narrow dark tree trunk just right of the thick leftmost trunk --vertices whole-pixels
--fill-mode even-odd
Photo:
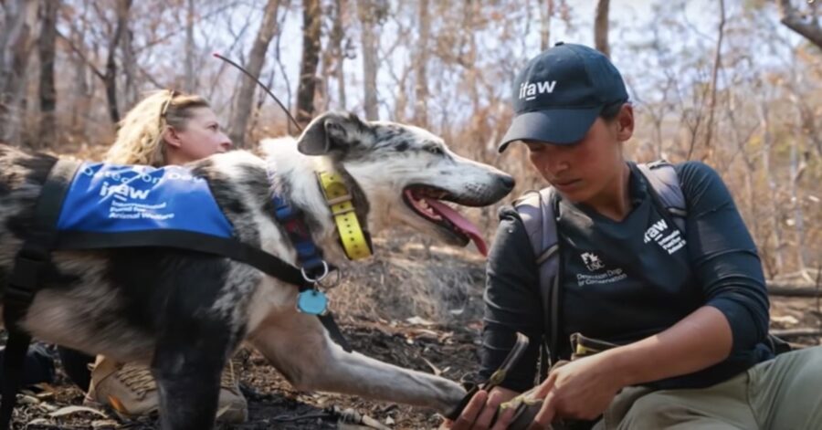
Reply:
[[[42,29],[37,47],[40,54],[40,135],[38,148],[55,144],[57,137],[57,91],[54,87],[54,51],[57,40],[59,0],[46,0],[43,5]]]

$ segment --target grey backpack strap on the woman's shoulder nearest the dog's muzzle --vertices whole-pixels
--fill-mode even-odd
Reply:
[[[539,271],[539,293],[542,300],[544,326],[548,327],[541,347],[540,378],[548,373],[553,362],[559,360],[559,271],[561,267],[559,237],[553,207],[553,188],[531,191],[514,202],[522,225],[531,242]]]

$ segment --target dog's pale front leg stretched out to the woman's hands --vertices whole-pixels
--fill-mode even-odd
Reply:
[[[266,320],[249,341],[299,390],[354,394],[443,414],[465,395],[445,378],[342,351],[310,315],[288,312]]]

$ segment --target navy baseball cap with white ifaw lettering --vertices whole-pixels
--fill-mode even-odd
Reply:
[[[581,141],[606,107],[628,100],[611,61],[591,47],[559,42],[532,58],[514,80],[514,119],[499,151],[514,141]]]

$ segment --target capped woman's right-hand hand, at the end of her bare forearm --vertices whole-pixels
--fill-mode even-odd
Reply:
[[[607,359],[603,352],[553,370],[536,389],[535,397],[544,399],[543,407],[529,429],[549,428],[556,416],[593,420],[602,414],[625,386]]]

